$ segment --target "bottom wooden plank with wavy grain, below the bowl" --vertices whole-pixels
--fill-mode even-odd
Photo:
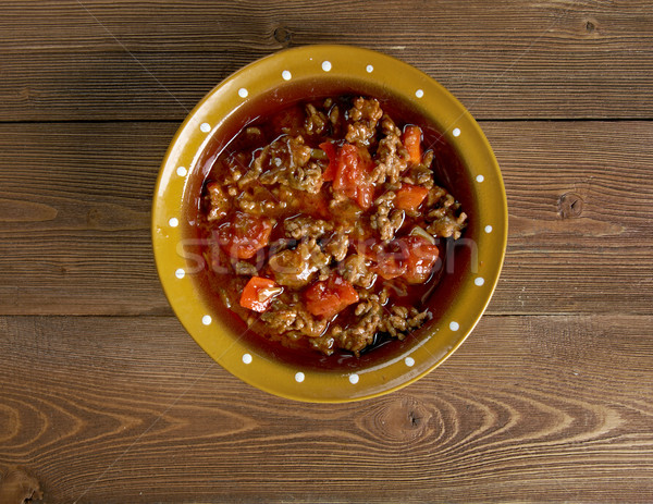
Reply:
[[[239,382],[173,318],[3,317],[0,469],[48,503],[649,502],[652,324],[484,317],[418,383],[325,406]]]

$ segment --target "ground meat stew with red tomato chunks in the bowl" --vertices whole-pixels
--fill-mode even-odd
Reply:
[[[198,208],[217,296],[257,334],[323,355],[403,340],[433,314],[467,224],[418,124],[379,100],[297,102],[214,157]]]

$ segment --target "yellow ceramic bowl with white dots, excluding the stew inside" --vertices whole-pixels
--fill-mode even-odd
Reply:
[[[188,234],[193,219],[189,207],[197,201],[206,176],[200,160],[209,142],[224,145],[270,103],[329,94],[382,96],[401,102],[402,110],[419,115],[438,131],[452,161],[436,164],[436,179],[461,201],[469,224],[447,254],[446,273],[431,296],[431,322],[405,341],[392,342],[360,359],[301,360],[256,335],[244,334],[217,311],[214,299],[207,298],[196,278],[199,259]],[[506,239],[507,206],[501,172],[469,112],[415,67],[346,46],[278,52],[245,66],[211,90],[173,138],[152,207],[159,276],[188,333],[223,368],[247,383],[308,402],[347,402],[385,394],[444,361],[483,314],[498,280]]]

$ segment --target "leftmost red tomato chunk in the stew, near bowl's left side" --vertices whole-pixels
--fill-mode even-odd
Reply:
[[[249,259],[270,243],[271,232],[270,219],[237,211],[218,229],[218,236],[220,245],[230,256]]]

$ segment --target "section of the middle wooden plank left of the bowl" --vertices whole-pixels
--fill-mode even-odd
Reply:
[[[3,126],[3,311],[171,314],[149,221],[158,165],[176,127]]]

